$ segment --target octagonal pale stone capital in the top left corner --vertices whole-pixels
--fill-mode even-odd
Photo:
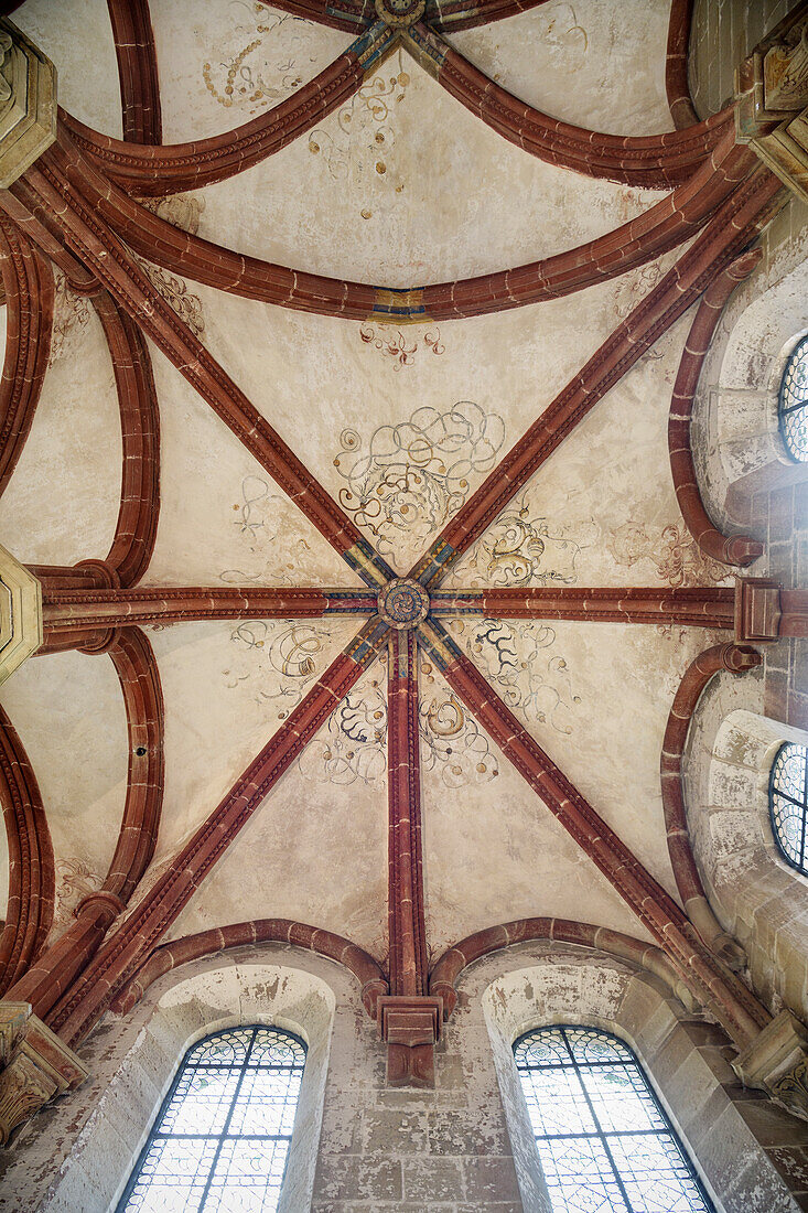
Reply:
[[[7,189],[56,139],[56,68],[0,17],[0,188]]]

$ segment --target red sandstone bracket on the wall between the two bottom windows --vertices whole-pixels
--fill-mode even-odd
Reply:
[[[387,1042],[389,1087],[434,1087],[434,1046],[440,1036],[443,998],[382,995],[376,1015]]]

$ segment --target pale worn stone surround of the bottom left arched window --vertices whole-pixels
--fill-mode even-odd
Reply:
[[[298,1036],[307,1048],[295,1128],[278,1213],[311,1206],[319,1152],[336,996],[290,955],[229,956],[166,974],[124,1019],[108,1016],[92,1037],[91,1080],[79,1088],[90,1112],[72,1139],[36,1213],[116,1208],[154,1118],[187,1050],[212,1032],[260,1024]],[[152,993],[152,991],[149,991]],[[55,1105],[59,1120],[69,1112]],[[22,1161],[22,1160],[21,1160]]]

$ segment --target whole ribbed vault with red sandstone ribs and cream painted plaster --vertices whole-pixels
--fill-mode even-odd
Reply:
[[[283,939],[347,964],[383,1033],[432,1008],[434,1038],[455,976],[506,927],[544,938],[556,918],[576,941],[571,898],[584,941],[607,932],[745,1048],[770,1015],[707,902],[681,769],[707,680],[759,664],[733,575],[763,548],[713,524],[690,420],[722,309],[787,195],[736,142],[732,106],[696,119],[689,5],[667,28],[654,15],[660,45],[635,35],[651,68],[626,121],[644,133],[588,129],[582,104],[580,123],[545,113],[516,68],[508,87],[520,38],[536,53],[561,38],[586,92],[605,36],[592,5],[591,29],[581,13],[563,30],[540,0],[289,0],[234,28],[221,6],[200,17],[204,47],[147,0],[108,7],[121,136],[93,127],[101,92],[72,112],[76,32],[56,141],[0,192],[0,522],[25,513],[28,548],[8,546],[41,583],[44,626],[0,716],[6,996],[75,1044],[173,964]],[[398,180],[408,138],[434,160]],[[488,247],[472,210],[495,204]],[[297,206],[305,230],[285,218]],[[524,211],[551,234],[519,250]],[[513,263],[494,264],[500,247]],[[85,457],[82,421],[104,386],[112,512],[109,452]],[[49,427],[64,444],[50,472]],[[227,534],[240,524],[227,552],[223,502]],[[789,619],[800,634],[802,600]],[[34,750],[61,753],[59,786],[81,795],[42,734],[53,688],[102,730],[81,762],[125,782],[118,816],[81,805],[109,841],[73,870],[58,776],[34,775]],[[235,725],[227,706],[197,724],[231,691]],[[633,738],[610,721],[624,699]],[[497,818],[513,819],[503,850]],[[415,1059],[391,1044],[393,1081],[431,1081],[427,1043]]]

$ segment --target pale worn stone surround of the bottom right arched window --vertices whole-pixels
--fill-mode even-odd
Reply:
[[[552,1211],[512,1048],[525,1032],[562,1023],[601,1027],[633,1050],[717,1213],[797,1213],[742,1115],[745,1104],[733,1098],[728,1041],[659,979],[605,953],[551,943],[485,957],[459,989],[479,1004],[524,1213]]]

